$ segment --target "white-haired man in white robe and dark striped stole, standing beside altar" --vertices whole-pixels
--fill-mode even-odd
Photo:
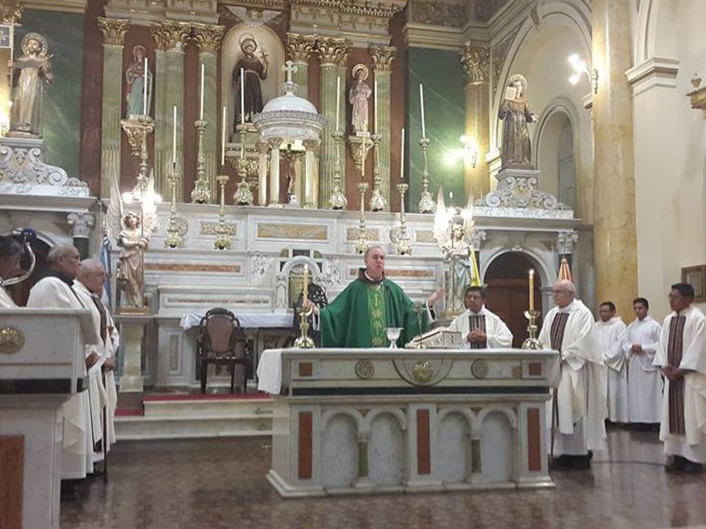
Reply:
[[[549,436],[554,431],[548,448],[554,466],[589,468],[589,451],[604,449],[606,439],[605,367],[593,315],[575,299],[573,283],[557,281],[551,293],[557,306],[544,318],[539,341],[559,351],[561,362],[552,377],[556,399],[547,403]]]

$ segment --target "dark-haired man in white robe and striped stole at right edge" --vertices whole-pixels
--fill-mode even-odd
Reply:
[[[662,368],[664,396],[659,439],[667,472],[701,472],[706,463],[706,317],[691,303],[693,286],[671,286],[654,365]]]

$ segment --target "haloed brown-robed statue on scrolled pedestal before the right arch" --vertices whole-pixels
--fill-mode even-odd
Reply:
[[[534,169],[530,129],[527,128],[527,123],[537,121],[537,116],[530,112],[530,106],[525,97],[526,93],[527,80],[518,73],[510,77],[498,111],[498,118],[504,122],[503,168]]]

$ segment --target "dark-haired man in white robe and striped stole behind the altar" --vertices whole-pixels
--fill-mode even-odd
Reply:
[[[513,334],[505,322],[485,307],[487,291],[481,286],[467,286],[463,300],[466,310],[455,317],[449,329],[461,332],[461,347],[497,349],[513,346]]]

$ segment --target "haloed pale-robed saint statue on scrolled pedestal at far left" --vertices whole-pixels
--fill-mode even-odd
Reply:
[[[11,62],[19,71],[12,99],[12,116],[8,136],[42,137],[42,93],[44,83],[54,79],[47,39],[39,33],[28,33],[22,39],[23,55]]]

